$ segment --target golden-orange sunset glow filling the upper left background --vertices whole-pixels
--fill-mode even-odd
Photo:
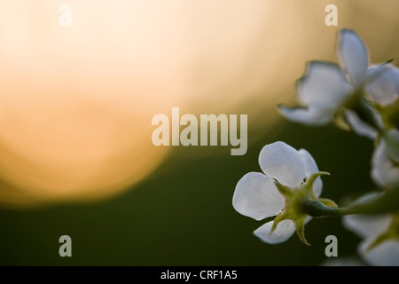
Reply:
[[[278,119],[276,104],[293,101],[304,63],[315,54],[334,59],[337,29],[325,27],[323,12],[318,27],[307,22],[328,1],[299,2],[2,2],[0,203],[121,193],[172,150],[151,142],[153,115],[172,106],[248,114],[267,130]],[[61,4],[72,8],[70,27],[59,25]],[[387,18],[393,5],[380,8]],[[342,24],[350,13],[340,14]],[[363,35],[370,46],[389,44]]]

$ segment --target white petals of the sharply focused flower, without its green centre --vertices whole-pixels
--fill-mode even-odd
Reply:
[[[317,164],[308,151],[295,150],[284,142],[275,142],[264,146],[259,155],[259,164],[263,173],[250,172],[239,180],[233,195],[233,207],[240,214],[262,220],[267,217],[282,215],[286,208],[285,196],[279,192],[278,184],[286,185],[293,192],[299,191],[303,181],[315,174],[320,174]],[[309,178],[310,179],[310,178]],[[322,192],[323,183],[320,177],[313,179],[313,193],[316,198]],[[301,215],[297,219],[284,219],[278,222],[267,222],[254,231],[262,241],[277,244],[288,240],[295,229],[303,237],[303,225],[311,217]],[[277,227],[274,227],[277,225]],[[301,227],[302,226],[302,227]]]

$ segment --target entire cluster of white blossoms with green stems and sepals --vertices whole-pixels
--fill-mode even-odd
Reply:
[[[339,65],[309,62],[296,83],[299,106],[278,109],[292,122],[312,126],[333,122],[371,138],[375,149],[370,174],[379,187],[378,196],[372,201],[368,195],[361,197],[353,208],[337,208],[319,197],[320,176],[327,173],[317,169],[309,152],[276,142],[264,146],[259,155],[263,173],[250,172],[239,180],[233,207],[256,220],[275,217],[254,231],[270,244],[286,241],[295,230],[308,243],[304,225],[312,217],[345,215],[343,224],[364,238],[358,252],[368,264],[399,265],[399,205],[395,205],[399,201],[384,208],[387,198],[383,198],[399,191],[399,68],[389,60],[371,64],[364,42],[349,29],[340,31],[336,52]],[[362,209],[356,212],[358,204]]]

